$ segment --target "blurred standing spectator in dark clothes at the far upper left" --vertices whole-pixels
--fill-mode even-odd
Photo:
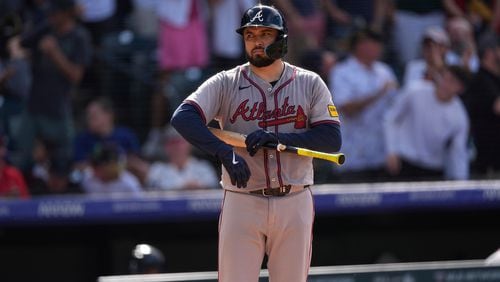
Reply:
[[[35,136],[53,142],[55,157],[71,160],[73,142],[72,91],[78,86],[91,58],[90,37],[75,16],[72,0],[51,0],[48,22],[24,34],[21,44],[31,51],[33,82],[16,140],[19,167],[32,162]]]

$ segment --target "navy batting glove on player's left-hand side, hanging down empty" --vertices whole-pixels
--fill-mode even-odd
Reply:
[[[236,185],[238,188],[247,187],[248,179],[250,179],[250,169],[248,164],[241,156],[234,153],[231,149],[224,152],[219,157],[222,165],[227,170],[229,177],[231,178],[231,183]]]

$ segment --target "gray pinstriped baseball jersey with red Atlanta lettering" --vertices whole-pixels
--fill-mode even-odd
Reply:
[[[332,95],[319,75],[284,64],[274,86],[253,74],[247,63],[214,75],[185,102],[197,107],[206,123],[216,119],[222,129],[246,135],[257,129],[301,133],[314,125],[339,123]],[[313,184],[312,158],[273,149],[259,150],[254,157],[244,148],[235,152],[252,173],[246,190]],[[222,186],[242,191],[231,184],[224,167]]]

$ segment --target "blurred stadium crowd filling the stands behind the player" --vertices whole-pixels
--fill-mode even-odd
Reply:
[[[0,196],[217,188],[169,119],[245,62],[256,0],[0,0]],[[269,0],[320,74],[345,165],[316,183],[500,178],[500,3]]]

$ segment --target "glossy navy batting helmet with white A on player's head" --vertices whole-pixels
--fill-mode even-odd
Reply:
[[[267,5],[258,4],[246,10],[241,18],[241,26],[236,30],[243,35],[243,30],[247,27],[269,27],[278,30],[279,35],[276,41],[266,47],[266,55],[272,59],[279,59],[285,56],[288,51],[287,37],[288,29],[286,21],[281,12]]]

